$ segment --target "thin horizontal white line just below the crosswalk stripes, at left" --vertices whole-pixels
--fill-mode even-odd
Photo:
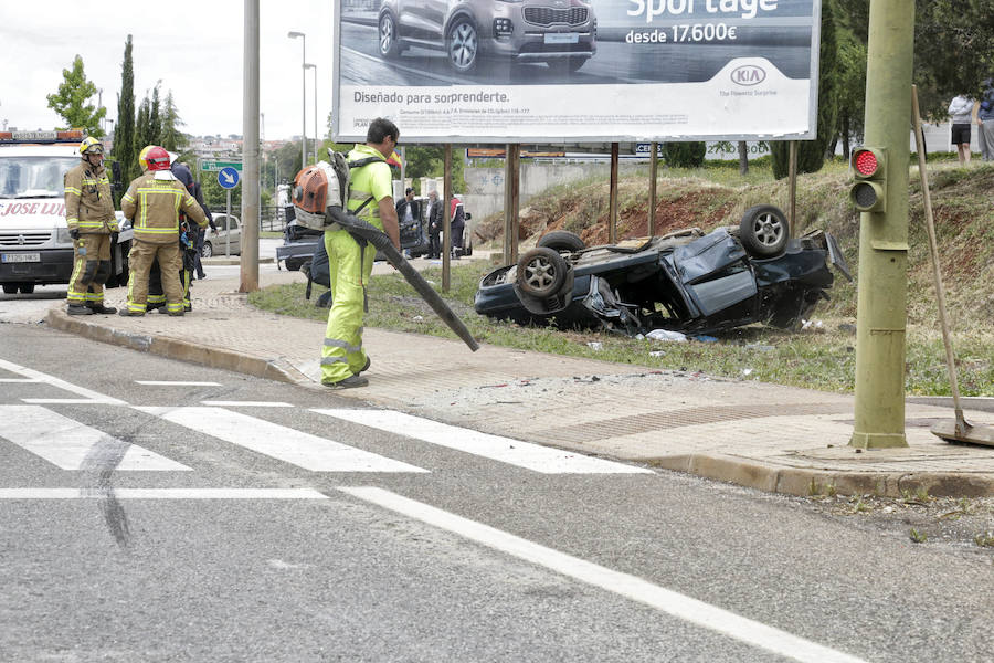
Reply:
[[[114,488],[117,499],[328,499],[310,488]],[[0,499],[105,499],[87,488],[0,488]]]

